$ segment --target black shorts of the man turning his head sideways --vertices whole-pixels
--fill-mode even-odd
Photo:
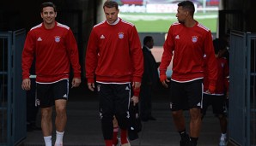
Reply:
[[[170,82],[170,108],[172,111],[202,108],[203,79],[191,82]]]

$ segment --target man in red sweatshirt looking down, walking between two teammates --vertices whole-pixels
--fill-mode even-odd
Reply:
[[[118,3],[107,0],[103,9],[107,20],[94,26],[88,40],[85,58],[88,89],[94,91],[96,81],[106,146],[115,144],[112,140],[113,115],[119,123],[122,146],[129,146],[129,106],[131,102],[138,102],[143,52],[136,27],[118,17]]]

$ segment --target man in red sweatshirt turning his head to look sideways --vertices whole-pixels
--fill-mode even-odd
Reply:
[[[202,95],[204,79],[204,55],[208,56],[206,66],[209,67],[209,90],[215,91],[216,58],[212,44],[211,32],[208,28],[193,19],[195,8],[191,1],[178,3],[176,17],[168,30],[168,37],[163,45],[160,65],[162,85],[168,87],[170,82],[170,108],[174,125],[180,133],[180,146],[195,146],[201,128]],[[166,71],[174,57],[173,74],[167,79]],[[183,110],[189,108],[190,137],[186,134],[186,122]]]

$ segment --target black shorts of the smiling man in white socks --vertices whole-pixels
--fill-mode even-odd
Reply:
[[[36,84],[36,106],[40,108],[52,107],[55,100],[68,100],[69,79],[63,79],[53,84]]]

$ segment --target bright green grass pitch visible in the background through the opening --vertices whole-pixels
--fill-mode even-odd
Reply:
[[[119,16],[137,27],[137,32],[168,32],[169,26],[177,21],[176,14],[120,13]],[[218,13],[197,13],[194,19],[216,32]]]

